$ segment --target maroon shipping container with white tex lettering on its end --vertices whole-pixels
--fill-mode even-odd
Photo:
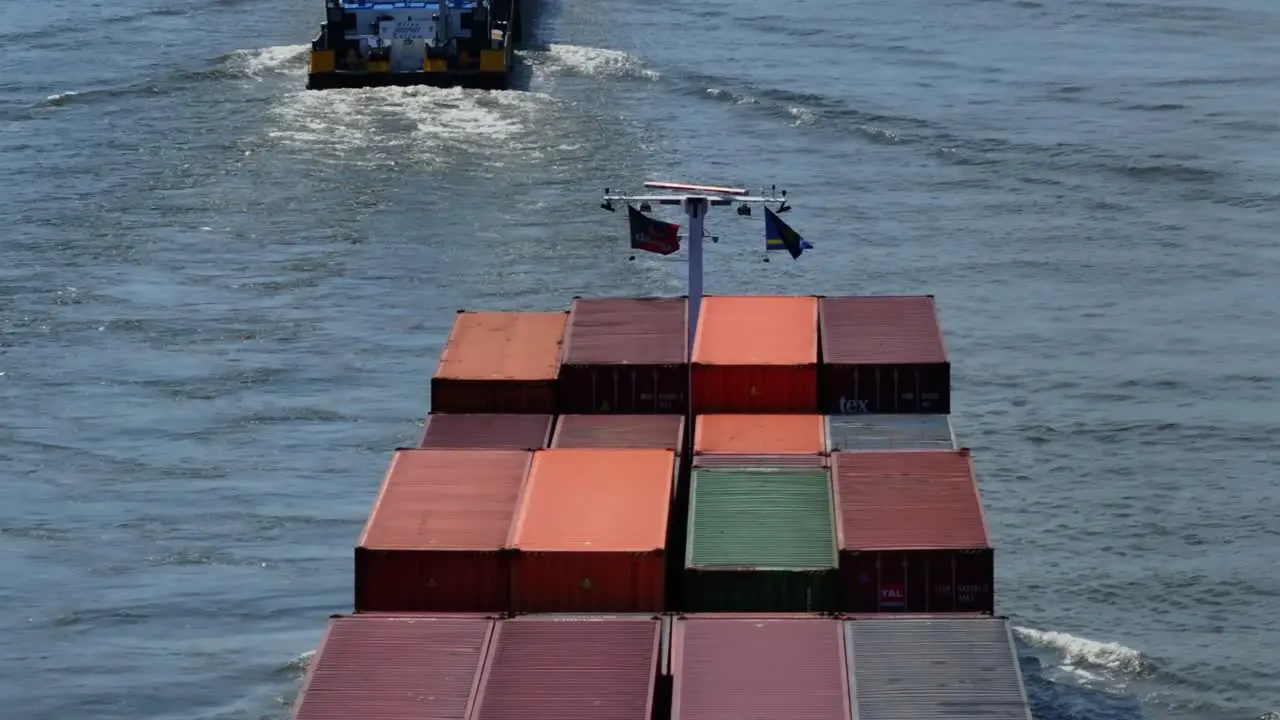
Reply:
[[[933,296],[819,301],[824,415],[951,413],[951,361]]]

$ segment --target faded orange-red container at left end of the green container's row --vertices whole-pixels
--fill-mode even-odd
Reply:
[[[356,611],[506,610],[504,547],[531,457],[396,451],[356,547]]]

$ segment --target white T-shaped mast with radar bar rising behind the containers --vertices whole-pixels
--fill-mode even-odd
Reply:
[[[604,188],[604,201],[600,208],[613,211],[613,202],[637,202],[639,210],[649,210],[650,204],[680,205],[689,219],[689,351],[694,351],[694,337],[698,333],[698,315],[703,305],[703,236],[707,213],[710,208],[737,205],[739,215],[750,215],[751,205],[777,202],[776,213],[786,213],[787,191],[778,192],[771,187],[768,193],[748,195],[740,187],[717,187],[708,184],[684,184],[678,182],[646,182],[646,190],[666,190],[664,195],[616,195]]]

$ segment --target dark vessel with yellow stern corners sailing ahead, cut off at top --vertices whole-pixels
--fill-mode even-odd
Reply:
[[[520,4],[325,0],[325,22],[311,42],[307,90],[507,90],[521,32]]]

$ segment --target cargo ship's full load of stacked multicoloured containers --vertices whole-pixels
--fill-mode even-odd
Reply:
[[[294,719],[1030,720],[950,375],[932,296],[458,311]]]

